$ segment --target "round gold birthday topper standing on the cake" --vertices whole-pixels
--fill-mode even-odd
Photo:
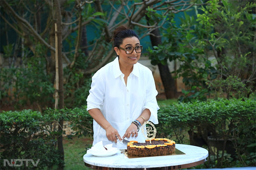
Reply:
[[[157,129],[151,121],[146,121],[142,125],[142,134],[145,136],[146,140],[149,140],[151,143],[151,140],[157,135]]]

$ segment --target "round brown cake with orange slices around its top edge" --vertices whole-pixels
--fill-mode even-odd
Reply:
[[[127,144],[127,154],[138,156],[170,155],[175,151],[175,142],[166,138],[146,140],[145,143],[130,141]]]

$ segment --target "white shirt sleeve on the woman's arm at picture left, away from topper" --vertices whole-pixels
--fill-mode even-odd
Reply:
[[[87,111],[90,109],[100,109],[102,111],[104,101],[104,84],[100,72],[96,72],[92,77],[91,89],[89,90],[89,96],[87,97]]]

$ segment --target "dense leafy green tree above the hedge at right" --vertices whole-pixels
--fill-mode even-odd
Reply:
[[[219,79],[230,80],[225,84],[241,80],[247,87],[243,88],[244,93],[248,88],[255,91],[254,7],[250,1],[208,1],[200,8],[203,12],[197,14],[197,19],[185,13],[181,27],[174,20],[169,22],[163,33],[166,41],[150,50],[150,55],[152,63],[165,63],[167,59],[181,62],[176,74],[183,77],[187,90],[182,90],[180,101],[207,100],[211,91],[224,89],[219,88],[223,85]],[[228,85],[227,98],[231,91],[242,94],[238,84],[242,87],[237,82],[232,90]]]

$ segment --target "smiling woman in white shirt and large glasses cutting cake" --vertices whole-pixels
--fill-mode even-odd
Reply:
[[[126,145],[117,138],[144,142],[140,126],[148,120],[158,124],[158,92],[150,69],[137,63],[142,52],[138,35],[121,26],[112,41],[117,57],[92,77],[87,111],[94,119],[93,145],[102,140],[122,149]]]

